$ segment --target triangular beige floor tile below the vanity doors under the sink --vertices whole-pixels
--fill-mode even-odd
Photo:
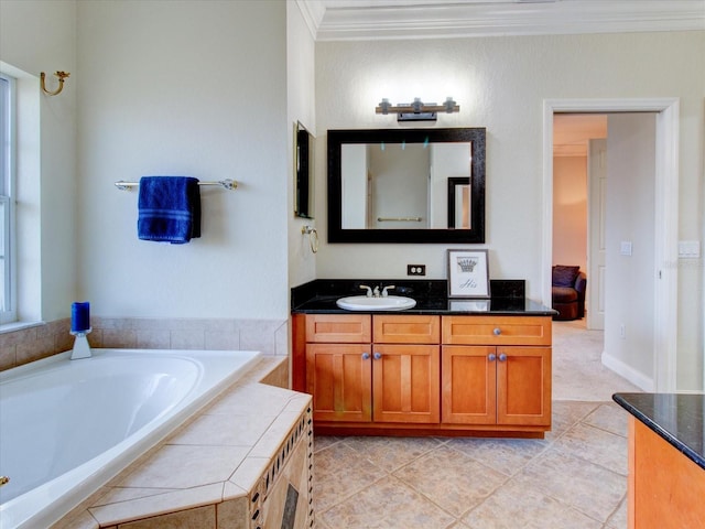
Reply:
[[[441,441],[433,438],[347,438],[344,442],[387,472],[441,445]]]

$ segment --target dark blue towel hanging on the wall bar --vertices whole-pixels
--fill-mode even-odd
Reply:
[[[200,188],[192,176],[142,176],[137,233],[142,240],[183,245],[200,237]]]

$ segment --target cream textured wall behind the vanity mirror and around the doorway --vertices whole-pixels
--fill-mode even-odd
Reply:
[[[487,127],[487,244],[495,279],[527,279],[541,299],[545,99],[680,98],[680,239],[702,240],[705,32],[510,36],[316,45],[316,119],[325,131],[397,128],[382,97],[443,100],[436,127]],[[319,149],[317,176],[325,182]],[[323,185],[319,185],[319,188]],[[325,190],[318,194],[325,204]],[[319,208],[321,210],[321,208]],[[318,218],[318,226],[324,226]],[[325,240],[325,233],[322,234]],[[457,245],[454,245],[457,246]],[[445,278],[445,245],[322,245],[321,278]],[[703,260],[679,262],[679,388],[703,388]]]

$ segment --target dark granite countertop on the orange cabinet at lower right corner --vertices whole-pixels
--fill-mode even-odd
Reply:
[[[612,399],[705,469],[705,395],[615,393]]]

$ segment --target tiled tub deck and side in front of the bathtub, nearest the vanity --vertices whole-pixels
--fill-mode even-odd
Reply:
[[[52,529],[249,529],[263,505],[283,511],[286,497],[274,493],[282,479],[305,507],[295,527],[308,527],[311,397],[261,384],[285,379],[278,371],[286,368],[283,358],[262,358]]]

